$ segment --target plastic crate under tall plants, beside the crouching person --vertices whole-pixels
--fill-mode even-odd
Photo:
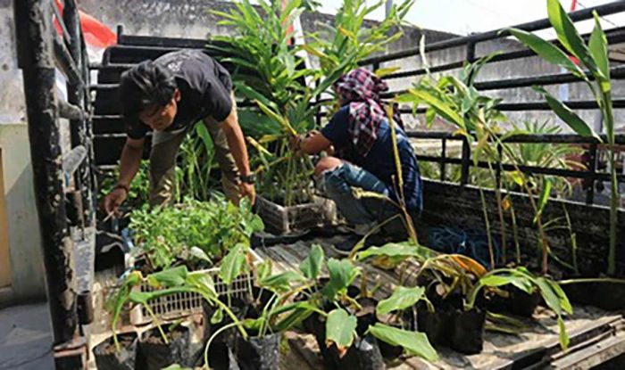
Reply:
[[[334,221],[337,206],[334,201],[315,196],[312,203],[284,207],[262,196],[256,197],[258,215],[267,229],[285,234],[323,226]]]

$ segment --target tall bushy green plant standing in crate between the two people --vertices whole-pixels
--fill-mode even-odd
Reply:
[[[237,29],[236,36],[217,37],[225,45],[211,46],[229,55],[222,62],[233,63],[237,95],[255,102],[258,111],[239,111],[241,124],[258,152],[256,172],[260,193],[286,206],[312,200],[312,162],[290,150],[293,136],[314,127],[321,103],[312,100],[331,86],[337,73],[321,81],[321,74],[306,69],[296,48],[288,45],[289,27],[304,8],[300,0],[258,2],[262,15],[249,0],[235,3],[230,12],[214,12],[221,25]],[[307,86],[312,78],[316,87]]]

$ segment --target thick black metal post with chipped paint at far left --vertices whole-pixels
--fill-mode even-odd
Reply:
[[[54,344],[76,333],[72,243],[66,222],[58,113],[54,98],[52,9],[46,0],[13,0],[18,60],[24,76],[30,154]]]

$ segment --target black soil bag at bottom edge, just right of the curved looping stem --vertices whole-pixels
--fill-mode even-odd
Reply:
[[[281,333],[262,337],[237,337],[237,362],[241,370],[273,370],[279,366]]]

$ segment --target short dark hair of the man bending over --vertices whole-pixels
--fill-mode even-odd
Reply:
[[[137,119],[151,106],[165,106],[176,91],[176,80],[167,68],[152,61],[140,62],[121,74],[120,102],[124,119]]]

